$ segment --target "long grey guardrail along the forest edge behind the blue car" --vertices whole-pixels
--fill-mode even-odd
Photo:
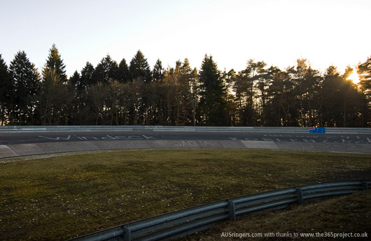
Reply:
[[[371,134],[371,128],[328,127],[326,133]],[[0,126],[0,133],[82,131],[212,131],[252,133],[309,133],[309,127],[261,126]]]

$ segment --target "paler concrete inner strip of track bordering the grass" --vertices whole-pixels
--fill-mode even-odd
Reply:
[[[94,140],[0,145],[0,158],[109,149],[235,148],[371,153],[370,144],[290,143],[255,140]]]

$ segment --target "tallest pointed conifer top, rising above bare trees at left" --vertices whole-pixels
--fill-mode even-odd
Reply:
[[[45,75],[46,71],[55,70],[57,75],[60,75],[62,82],[67,81],[66,75],[66,65],[63,64],[63,59],[61,59],[61,55],[55,44],[52,45],[52,48],[49,50],[48,59],[46,59],[46,64],[43,69],[43,75]]]

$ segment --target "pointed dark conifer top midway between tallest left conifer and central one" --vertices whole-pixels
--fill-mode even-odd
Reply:
[[[138,50],[137,54],[130,61],[130,78],[132,80],[142,80],[144,82],[151,82],[152,74],[147,59],[141,50]]]

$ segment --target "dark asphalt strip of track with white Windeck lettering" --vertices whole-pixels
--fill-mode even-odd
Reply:
[[[323,133],[238,133],[238,132],[157,132],[157,131],[94,131],[0,133],[0,145],[57,143],[97,140],[251,140],[289,143],[370,144],[371,135]]]

